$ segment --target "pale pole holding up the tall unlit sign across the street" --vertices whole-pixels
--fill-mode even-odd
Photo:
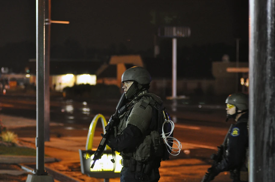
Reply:
[[[173,35],[176,35],[176,27],[173,28]],[[172,98],[177,97],[177,39],[172,39]]]

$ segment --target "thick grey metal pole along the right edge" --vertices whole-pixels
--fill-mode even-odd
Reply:
[[[274,182],[275,2],[249,3],[249,182]]]

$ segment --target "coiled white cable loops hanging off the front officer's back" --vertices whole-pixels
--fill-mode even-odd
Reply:
[[[164,125],[165,123],[170,123],[171,124],[171,132],[169,133],[164,133]],[[172,120],[166,120],[164,121],[163,125],[162,125],[162,134],[160,135],[161,138],[163,139],[163,141],[165,142],[166,144],[166,149],[168,150],[168,152],[172,155],[172,156],[177,156],[179,155],[180,151],[182,150],[182,144],[180,143],[179,140],[177,140],[176,138],[174,137],[170,137],[170,135],[172,135],[173,131],[174,131],[174,128],[175,128],[175,124]],[[175,142],[173,142],[175,141]],[[169,143],[173,143],[176,145],[176,148],[173,148],[169,145]],[[169,148],[169,149],[168,149]],[[172,154],[171,152],[174,152],[175,154]]]

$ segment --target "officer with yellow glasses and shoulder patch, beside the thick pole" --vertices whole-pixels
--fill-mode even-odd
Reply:
[[[237,123],[227,138],[223,160],[208,170],[213,170],[215,176],[230,171],[233,182],[248,181],[248,96],[233,93],[225,103],[227,120],[233,118]]]

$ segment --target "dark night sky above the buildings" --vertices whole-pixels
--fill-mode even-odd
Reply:
[[[36,2],[0,2],[0,67],[24,72],[36,55]],[[178,39],[178,66],[201,69],[198,77],[211,76],[212,61],[228,54],[248,61],[248,0],[91,1],[52,0],[51,58],[102,59],[114,54],[140,54],[153,59],[154,36],[160,26],[188,26],[191,37]],[[170,65],[172,41],[156,38],[157,59]]]

